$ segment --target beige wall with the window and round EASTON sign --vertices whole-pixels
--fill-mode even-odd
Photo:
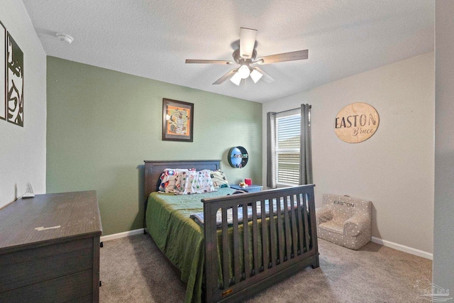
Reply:
[[[312,105],[312,155],[316,205],[322,194],[370,199],[372,236],[398,246],[433,251],[433,53],[370,70],[263,104],[267,111]],[[380,126],[362,143],[334,133],[344,106],[365,102],[377,109]],[[266,134],[263,137],[266,180]],[[426,252],[426,253],[424,253]]]

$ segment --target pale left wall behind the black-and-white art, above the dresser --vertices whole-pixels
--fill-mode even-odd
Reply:
[[[15,199],[15,187],[21,196],[27,182],[45,192],[46,59],[22,1],[0,0],[0,21],[24,56],[23,127],[0,120],[1,207]]]

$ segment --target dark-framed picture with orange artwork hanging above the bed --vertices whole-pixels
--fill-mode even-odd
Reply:
[[[194,104],[162,99],[162,140],[192,142]]]

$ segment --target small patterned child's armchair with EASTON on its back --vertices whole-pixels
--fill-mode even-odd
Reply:
[[[317,235],[326,241],[357,250],[372,238],[372,202],[323,194],[316,209]]]

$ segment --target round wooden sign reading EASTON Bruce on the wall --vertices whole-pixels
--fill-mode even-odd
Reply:
[[[367,103],[352,103],[339,111],[334,132],[348,143],[360,143],[372,137],[380,124],[377,111]]]

